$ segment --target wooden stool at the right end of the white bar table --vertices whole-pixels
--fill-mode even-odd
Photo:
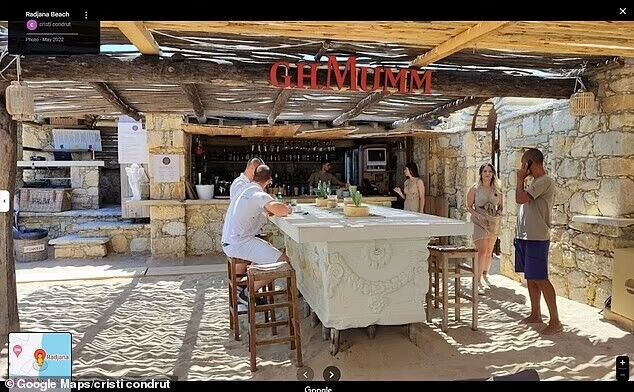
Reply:
[[[472,247],[458,245],[433,245],[429,249],[429,292],[427,293],[427,322],[431,323],[432,310],[438,308],[442,299],[442,330],[448,329],[449,314],[449,278],[454,278],[455,294],[454,307],[456,321],[460,321],[460,298],[471,302],[471,329],[478,330],[478,287],[476,285],[476,255],[478,250]],[[466,260],[462,264],[461,260]],[[442,277],[442,292],[439,293],[439,276]],[[432,277],[433,282],[432,282]],[[460,290],[460,278],[470,277],[472,282],[471,295]],[[432,290],[433,289],[433,290]],[[432,308],[432,301],[434,307]]]

